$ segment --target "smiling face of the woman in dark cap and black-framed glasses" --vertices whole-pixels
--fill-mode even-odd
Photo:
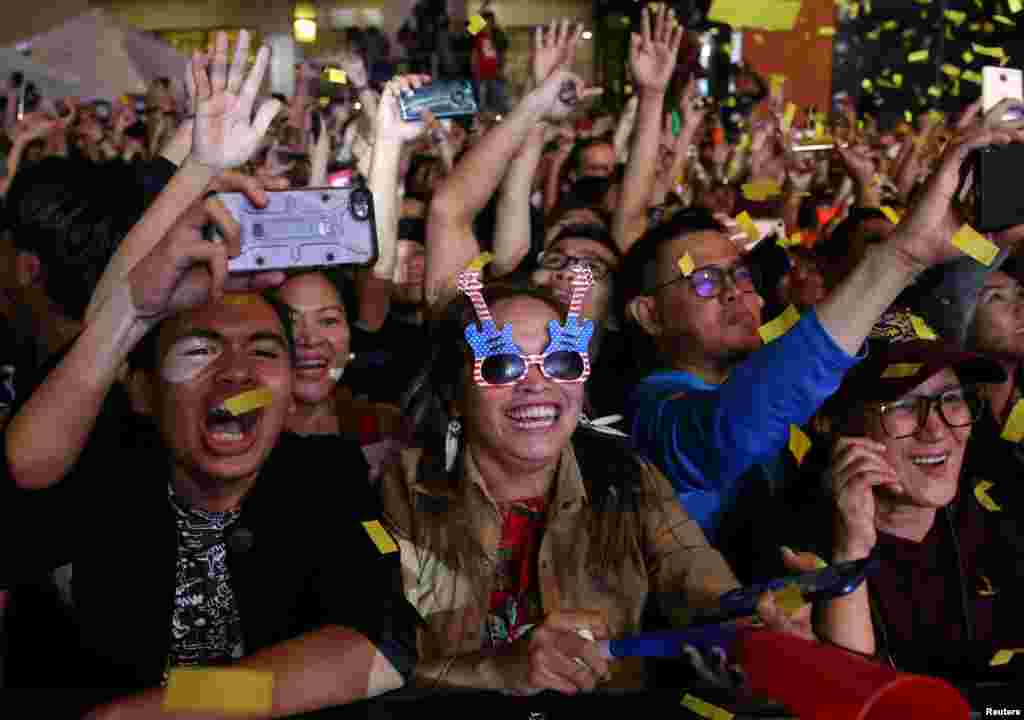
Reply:
[[[889,405],[902,404],[920,395],[935,396],[946,390],[959,388],[956,375],[952,370],[946,369],[918,385],[895,404]],[[955,397],[955,394],[951,397]],[[956,412],[963,412],[963,409],[957,409],[955,401],[950,399],[946,414],[951,416]],[[890,429],[893,424],[892,420],[887,420]],[[939,410],[933,403],[925,424],[909,437],[890,437],[883,426],[882,416],[876,412],[867,414],[867,434],[871,439],[885,443],[885,459],[896,471],[903,489],[902,495],[889,496],[891,502],[926,508],[940,508],[952,502],[964,464],[964,449],[971,435],[970,426],[949,427],[939,416]]]

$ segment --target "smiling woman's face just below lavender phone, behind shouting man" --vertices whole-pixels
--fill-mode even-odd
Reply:
[[[290,279],[281,299],[291,308],[295,328],[295,399],[326,400],[348,363],[349,330],[338,291],[322,272]]]

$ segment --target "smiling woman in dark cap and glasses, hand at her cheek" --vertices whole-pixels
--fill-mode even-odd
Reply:
[[[983,412],[976,385],[1005,375],[905,313],[883,317],[871,337],[822,411],[839,439],[825,474],[833,510],[820,515],[830,538],[818,547],[830,541],[835,562],[881,559],[834,601],[858,620],[833,639],[901,670],[958,674],[1024,639],[1011,606],[1024,555],[962,475]]]

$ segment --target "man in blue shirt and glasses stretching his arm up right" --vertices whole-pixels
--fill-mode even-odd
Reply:
[[[869,247],[824,301],[764,346],[764,301],[751,268],[709,213],[680,213],[630,249],[625,314],[650,336],[665,368],[634,392],[633,435],[741,580],[752,564],[743,533],[760,514],[749,511],[776,490],[791,425],[807,422],[836,390],[899,293],[959,256],[950,239],[962,220],[948,199],[967,153],[1018,135],[966,132],[891,240]]]

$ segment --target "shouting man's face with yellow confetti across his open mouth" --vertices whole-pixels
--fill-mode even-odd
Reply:
[[[281,321],[258,295],[231,295],[161,328],[154,413],[175,476],[216,491],[244,485],[278,442],[292,407],[292,363]],[[270,403],[240,417],[224,401],[255,389]]]

